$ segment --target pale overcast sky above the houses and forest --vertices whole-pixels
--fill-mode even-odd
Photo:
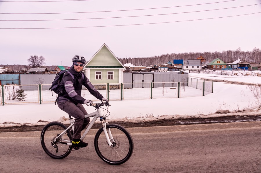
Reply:
[[[1,1],[48,1],[48,0],[1,0]],[[50,1],[50,0],[49,0]],[[226,0],[221,0],[226,1]],[[261,0],[235,0],[223,3],[218,0],[114,0],[114,1],[68,1],[68,2],[0,2],[0,13],[68,13],[75,14],[0,14],[0,20],[53,20],[88,19],[63,21],[0,21],[0,28],[53,28],[86,27],[67,29],[0,29],[0,64],[27,65],[30,55],[42,55],[46,65],[72,64],[74,55],[89,60],[104,44],[118,58],[150,57],[182,52],[204,52],[236,50],[251,51],[261,48],[261,13],[219,19],[184,21],[216,18],[261,12]],[[193,5],[175,8],[181,5]],[[151,10],[132,10],[160,8]],[[89,19],[120,16],[142,16],[112,19]],[[118,12],[97,12],[131,10]],[[149,25],[90,27],[106,25]],[[197,57],[195,57],[197,58]]]

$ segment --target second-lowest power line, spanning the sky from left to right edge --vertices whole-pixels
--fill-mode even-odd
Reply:
[[[253,5],[259,5],[253,4]],[[89,19],[115,19],[115,18],[127,18],[127,17],[144,17],[144,16],[161,16],[161,15],[170,15],[170,14],[183,14],[183,13],[194,13],[194,12],[205,12],[205,11],[214,11],[214,10],[224,10],[230,8],[240,8],[240,7],[247,7],[253,5],[244,5],[238,7],[229,7],[229,8],[219,8],[219,9],[212,9],[212,10],[200,10],[200,11],[191,11],[191,12],[178,12],[178,13],[168,13],[168,14],[150,14],[150,15],[140,15],[140,16],[120,16],[120,17],[101,17],[101,18],[87,18],[87,19],[43,19],[43,20],[0,20],[0,21],[69,21],[69,20],[89,20]]]

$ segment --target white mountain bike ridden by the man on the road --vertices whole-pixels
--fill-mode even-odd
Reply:
[[[130,159],[133,153],[133,139],[130,133],[118,124],[109,124],[106,117],[110,115],[108,102],[90,104],[97,111],[85,115],[85,118],[93,117],[84,134],[81,137],[83,141],[93,124],[100,119],[102,127],[97,131],[94,138],[94,148],[98,156],[106,163],[111,165],[120,165]],[[101,106],[106,106],[102,108]],[[101,109],[106,110],[107,114],[102,115]],[[50,122],[44,126],[41,132],[41,145],[46,154],[54,159],[63,159],[71,151],[80,148],[72,145],[73,135],[71,130],[74,128],[74,120],[69,115],[70,126],[66,127],[61,122]]]

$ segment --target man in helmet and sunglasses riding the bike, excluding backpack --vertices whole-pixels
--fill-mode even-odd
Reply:
[[[62,92],[58,97],[58,107],[75,118],[73,130],[73,146],[86,147],[88,143],[83,142],[81,138],[81,131],[86,128],[90,122],[90,118],[84,118],[87,112],[82,104],[92,104],[92,100],[86,100],[81,97],[82,86],[86,87],[88,91],[101,101],[109,102],[104,98],[99,91],[91,84],[90,80],[82,72],[86,60],[83,56],[75,55],[72,59],[73,66],[70,67],[59,84]]]

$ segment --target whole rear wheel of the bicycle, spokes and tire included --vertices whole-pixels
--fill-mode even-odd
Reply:
[[[72,151],[73,146],[60,143],[64,140],[73,140],[70,130],[55,140],[66,128],[61,122],[50,122],[44,126],[41,132],[41,145],[48,156],[54,159],[63,159]]]

